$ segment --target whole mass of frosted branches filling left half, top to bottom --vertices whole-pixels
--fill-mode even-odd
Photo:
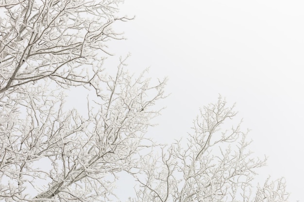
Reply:
[[[137,167],[166,80],[102,67],[122,0],[0,1],[0,201],[104,201]],[[111,71],[113,72],[113,71]],[[86,114],[65,106],[86,88]],[[94,93],[93,93],[94,92]],[[79,94],[79,96],[83,96]]]

